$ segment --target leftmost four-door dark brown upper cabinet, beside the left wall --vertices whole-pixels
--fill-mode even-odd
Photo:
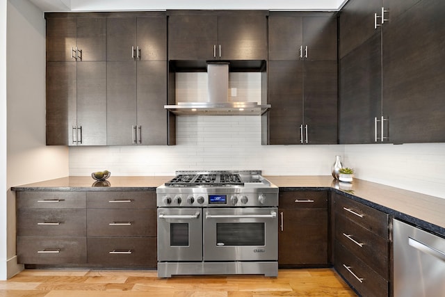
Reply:
[[[105,18],[45,17],[47,145],[106,145]]]

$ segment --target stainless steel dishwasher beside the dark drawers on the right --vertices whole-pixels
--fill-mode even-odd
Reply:
[[[400,220],[394,227],[394,296],[445,297],[445,239]]]

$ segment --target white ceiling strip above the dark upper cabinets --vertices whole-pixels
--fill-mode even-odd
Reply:
[[[347,0],[29,0],[43,11],[167,9],[339,10]]]

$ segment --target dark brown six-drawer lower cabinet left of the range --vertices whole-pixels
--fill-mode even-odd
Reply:
[[[17,262],[156,268],[155,191],[17,192]]]

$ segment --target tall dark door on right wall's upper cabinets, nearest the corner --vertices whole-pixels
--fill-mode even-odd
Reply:
[[[382,114],[380,34],[341,58],[340,143],[375,143],[375,117]]]

